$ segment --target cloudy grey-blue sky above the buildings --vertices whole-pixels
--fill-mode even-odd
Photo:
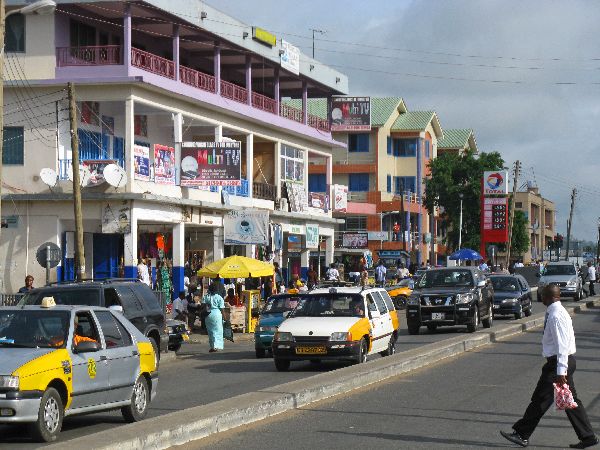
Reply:
[[[401,96],[480,151],[522,165],[566,233],[596,240],[600,217],[600,2],[569,0],[208,0],[349,77],[351,95]],[[332,42],[334,41],[334,42]]]

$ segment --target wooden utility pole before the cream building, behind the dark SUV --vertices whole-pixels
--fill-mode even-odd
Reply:
[[[81,214],[81,182],[79,176],[79,138],[77,137],[77,109],[73,83],[67,85],[69,95],[69,125],[71,129],[71,154],[73,169],[73,207],[75,210],[75,278],[81,281],[85,274],[83,254],[83,216]]]

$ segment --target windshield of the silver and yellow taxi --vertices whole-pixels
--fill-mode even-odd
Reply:
[[[0,310],[0,347],[64,348],[68,311]]]

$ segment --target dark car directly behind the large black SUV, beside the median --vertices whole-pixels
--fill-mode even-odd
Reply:
[[[492,274],[489,279],[494,287],[494,317],[531,315],[531,288],[522,275]]]

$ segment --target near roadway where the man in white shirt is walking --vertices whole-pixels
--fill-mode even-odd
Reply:
[[[600,432],[600,309],[574,317],[575,383]],[[485,346],[356,394],[309,405],[179,448],[509,448],[510,430],[539,377],[541,330]],[[565,414],[549,411],[530,448],[577,442]],[[290,445],[290,443],[293,443]]]

